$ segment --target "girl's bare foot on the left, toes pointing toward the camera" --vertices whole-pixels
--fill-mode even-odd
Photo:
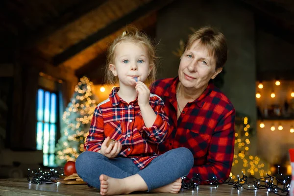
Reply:
[[[122,179],[112,178],[101,174],[99,180],[101,196],[129,194],[129,192],[125,190],[124,181]]]

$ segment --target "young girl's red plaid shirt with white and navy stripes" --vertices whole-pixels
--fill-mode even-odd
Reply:
[[[84,149],[97,152],[109,136],[122,143],[118,156],[129,157],[142,170],[158,155],[158,144],[168,134],[164,102],[150,94],[149,103],[157,116],[153,126],[147,128],[137,99],[127,103],[118,96],[118,90],[114,88],[109,98],[96,107]]]

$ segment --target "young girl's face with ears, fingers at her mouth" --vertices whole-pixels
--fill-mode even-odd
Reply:
[[[136,85],[138,81],[145,82],[152,65],[148,59],[147,48],[142,44],[133,42],[121,42],[114,51],[114,64],[110,64],[111,72],[118,76],[120,87]]]

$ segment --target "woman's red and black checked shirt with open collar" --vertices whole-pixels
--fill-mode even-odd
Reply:
[[[235,141],[235,109],[221,91],[209,83],[203,94],[187,103],[177,119],[178,77],[155,81],[151,93],[160,96],[167,107],[171,134],[159,146],[161,152],[187,147],[194,154],[188,178],[199,174],[202,180],[229,177]]]

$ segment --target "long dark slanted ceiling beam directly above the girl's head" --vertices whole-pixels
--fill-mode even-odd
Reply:
[[[123,26],[132,23],[136,19],[152,12],[156,11],[167,4],[171,3],[173,0],[152,0],[138,9],[128,13],[127,15],[123,16],[117,21],[107,25],[106,27],[99,29],[97,32],[93,33],[86,39],[80,41],[79,43],[74,44],[72,47],[64,50],[60,54],[57,54],[53,57],[53,65],[58,66],[62,62],[66,61],[67,59],[71,58],[73,55],[77,54],[78,52],[86,49],[87,47],[91,46],[92,44],[96,43],[97,41],[103,39],[104,37],[114,33],[115,31],[119,30]]]

